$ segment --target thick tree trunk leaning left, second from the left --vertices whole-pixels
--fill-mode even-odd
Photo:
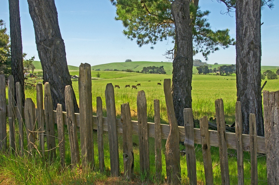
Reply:
[[[66,85],[72,87],[72,81],[67,66],[65,45],[58,25],[54,0],[28,0],[28,5],[35,29],[44,83],[48,82],[50,84],[54,109],[56,109],[57,103],[60,103],[63,111],[66,111],[64,90]],[[75,96],[74,107],[75,112],[78,112]]]

